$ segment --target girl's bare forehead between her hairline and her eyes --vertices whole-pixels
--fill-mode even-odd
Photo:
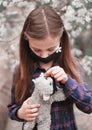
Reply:
[[[43,49],[50,48],[56,46],[59,43],[60,43],[60,36],[57,37],[48,36],[47,38],[41,40],[29,38],[29,44],[33,48],[43,48]]]

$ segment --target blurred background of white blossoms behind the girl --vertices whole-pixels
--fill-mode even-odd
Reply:
[[[63,19],[72,53],[80,59],[92,89],[92,0],[0,0],[0,130],[22,130],[22,123],[8,118],[7,104],[23,23],[29,12],[42,4],[52,6]],[[91,130],[92,114],[75,106],[74,110],[79,130]]]

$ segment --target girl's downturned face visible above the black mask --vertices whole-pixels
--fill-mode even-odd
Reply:
[[[60,45],[60,36],[48,36],[42,40],[30,38],[28,36],[27,38],[29,41],[29,47],[36,55],[42,58],[46,58],[51,55]]]

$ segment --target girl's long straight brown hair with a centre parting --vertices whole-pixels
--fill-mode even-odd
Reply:
[[[32,38],[44,39],[48,35],[58,36],[63,28],[61,36],[62,53],[59,56],[58,64],[63,67],[66,73],[72,78],[81,82],[78,66],[71,54],[71,46],[67,31],[64,28],[60,16],[48,6],[41,6],[33,10],[27,17],[20,37],[20,64],[15,74],[15,98],[17,103],[22,104],[26,99],[29,84],[32,78],[34,63],[30,56],[30,48],[25,38],[25,33]]]

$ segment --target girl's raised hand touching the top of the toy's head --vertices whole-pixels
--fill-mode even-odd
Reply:
[[[67,74],[65,73],[64,69],[60,66],[54,66],[48,69],[45,73],[45,76],[51,76],[54,79],[56,79],[56,81],[61,82],[63,84],[68,80]]]

